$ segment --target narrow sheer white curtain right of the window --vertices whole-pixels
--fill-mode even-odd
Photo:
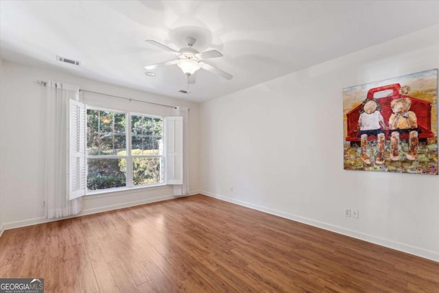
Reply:
[[[174,196],[187,196],[189,194],[189,143],[187,141],[189,108],[176,107],[174,109],[174,116],[183,117],[183,184],[174,185]]]

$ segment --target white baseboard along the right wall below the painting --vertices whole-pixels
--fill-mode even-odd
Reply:
[[[293,215],[291,213],[285,213],[283,211],[277,211],[275,209],[269,209],[267,207],[262,207],[262,206],[259,206],[257,204],[252,204],[250,202],[244,202],[243,200],[236,200],[234,198],[228,198],[228,197],[225,197],[225,196],[220,196],[218,194],[213,194],[213,193],[208,192],[208,191],[200,191],[200,194],[204,194],[206,196],[210,196],[211,198],[217,198],[219,200],[224,200],[226,202],[231,202],[231,203],[234,203],[234,204],[238,204],[240,206],[248,207],[250,209],[255,209],[257,211],[263,211],[265,213],[270,213],[272,215],[278,215],[279,217],[282,217],[282,218],[286,218],[286,219],[293,220],[293,221],[296,221],[296,222],[300,222],[300,223],[303,223],[303,224],[308,224],[310,226],[316,226],[316,227],[322,228],[324,230],[328,230],[328,231],[339,233],[339,234],[346,235],[346,236],[349,236],[349,237],[361,239],[361,240],[364,240],[366,242],[370,242],[370,243],[373,243],[373,244],[378,244],[378,245],[381,245],[381,246],[385,246],[385,247],[388,247],[388,248],[399,250],[399,251],[402,251],[403,253],[410,253],[411,255],[416,255],[418,257],[423,257],[425,259],[431,259],[432,261],[438,261],[439,262],[439,253],[436,252],[436,251],[427,250],[427,249],[419,248],[419,247],[416,247],[416,246],[411,246],[409,244],[404,244],[404,243],[401,243],[401,242],[394,242],[394,241],[389,240],[389,239],[384,239],[384,238],[377,237],[377,236],[374,236],[374,235],[370,235],[370,234],[361,233],[361,232],[358,232],[358,231],[353,231],[353,230],[350,230],[350,229],[346,229],[346,228],[343,228],[343,227],[340,227],[340,226],[336,226],[336,225],[333,225],[333,224],[328,224],[328,223],[325,223],[325,222],[320,222],[320,221],[312,220],[312,219],[309,219],[309,218],[302,217],[300,215]]]

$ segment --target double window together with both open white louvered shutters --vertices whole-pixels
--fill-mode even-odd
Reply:
[[[69,110],[69,199],[105,189],[182,184],[182,117]]]

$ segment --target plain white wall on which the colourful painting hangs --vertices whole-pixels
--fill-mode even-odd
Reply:
[[[342,117],[342,89],[438,67],[436,26],[203,103],[202,193],[439,261],[439,177],[344,170]]]

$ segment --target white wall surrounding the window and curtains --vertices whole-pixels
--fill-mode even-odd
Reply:
[[[144,101],[187,106],[189,114],[189,186],[191,193],[199,189],[198,110],[199,105],[141,91],[96,82],[56,69],[29,67],[3,60],[1,76],[0,116],[0,215],[3,228],[45,222],[44,195],[44,125],[45,87],[37,80],[55,80],[76,84],[81,89],[132,97]],[[123,108],[137,113],[171,115],[171,108],[128,102],[123,99],[84,93],[87,104],[106,108]],[[152,187],[118,191],[84,197],[82,214],[126,207],[133,204],[172,198],[172,187]]]

